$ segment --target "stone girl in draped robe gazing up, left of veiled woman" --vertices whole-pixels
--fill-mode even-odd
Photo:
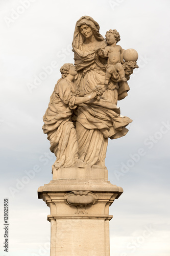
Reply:
[[[50,98],[50,103],[43,116],[43,132],[50,140],[50,150],[56,156],[53,168],[70,167],[80,162],[78,160],[78,142],[76,130],[71,121],[72,110],[78,104],[88,102],[90,99],[101,95],[99,89],[89,95],[80,97],[80,92],[76,90],[72,82],[77,71],[73,64],[64,64],[60,72],[62,78],[58,80],[54,92]]]

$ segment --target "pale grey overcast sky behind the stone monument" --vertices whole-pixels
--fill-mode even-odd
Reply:
[[[170,2],[23,2],[0,2],[0,217],[8,197],[10,256],[50,255],[50,208],[38,200],[37,189],[52,179],[55,157],[41,130],[42,116],[60,78],[59,68],[74,62],[71,42],[83,15],[99,23],[103,36],[116,29],[119,45],[139,54],[129,95],[118,102],[122,115],[133,122],[125,137],[109,141],[106,157],[110,182],[124,188],[110,207],[111,256],[169,256]],[[3,224],[0,235],[1,255],[9,255],[2,248]]]

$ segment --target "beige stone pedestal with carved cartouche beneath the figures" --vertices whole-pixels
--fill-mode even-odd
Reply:
[[[50,207],[51,256],[110,256],[109,206],[123,189],[106,169],[60,168],[38,189]]]

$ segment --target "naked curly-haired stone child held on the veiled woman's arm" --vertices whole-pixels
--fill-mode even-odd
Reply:
[[[106,41],[109,46],[106,46],[105,49],[99,49],[98,54],[102,58],[107,59],[107,67],[106,67],[106,75],[105,75],[105,84],[109,83],[109,79],[114,71],[119,73],[120,78],[122,81],[127,81],[125,77],[125,70],[122,66],[124,63],[123,53],[124,50],[121,46],[116,45],[116,43],[120,40],[120,35],[117,30],[110,29],[106,32]]]

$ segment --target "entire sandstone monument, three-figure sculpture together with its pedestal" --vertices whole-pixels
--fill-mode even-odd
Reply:
[[[138,54],[116,45],[116,30],[105,40],[99,29],[89,16],[76,23],[75,66],[61,67],[43,117],[56,156],[53,180],[38,188],[50,207],[51,256],[110,256],[109,206],[123,188],[108,181],[105,157],[108,139],[125,136],[132,122],[120,115],[117,101],[127,96]]]

